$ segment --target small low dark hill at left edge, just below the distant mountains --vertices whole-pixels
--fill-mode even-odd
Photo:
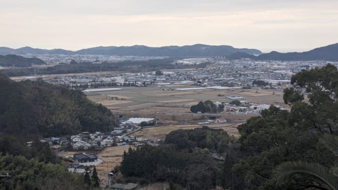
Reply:
[[[20,55],[0,55],[0,66],[2,67],[30,67],[46,64],[43,60],[33,57],[27,58]]]

